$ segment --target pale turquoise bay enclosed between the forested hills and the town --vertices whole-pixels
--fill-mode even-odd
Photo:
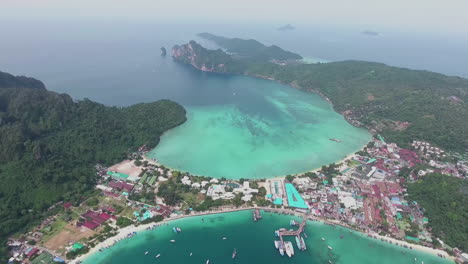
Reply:
[[[271,178],[336,162],[370,140],[317,94],[244,76],[207,76],[194,87],[206,101],[185,104],[187,122],[168,131],[150,157],[197,175]]]

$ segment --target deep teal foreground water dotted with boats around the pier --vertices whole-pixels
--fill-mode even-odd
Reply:
[[[261,221],[253,222],[250,211],[242,211],[176,220],[152,231],[142,231],[111,249],[96,253],[86,259],[85,264],[205,263],[207,259],[212,264],[319,264],[328,263],[329,260],[346,264],[451,263],[437,256],[404,249],[320,222],[309,222],[306,227],[307,251],[301,252],[295,246],[294,257],[281,257],[273,245],[274,231],[281,227],[289,228],[291,218],[263,213]],[[174,226],[182,228],[182,232],[174,234]],[[227,240],[222,240],[222,237],[227,237]],[[322,241],[322,237],[326,241]],[[176,242],[170,243],[171,239]],[[329,251],[327,246],[333,250]],[[231,254],[234,248],[238,254],[233,260]],[[144,254],[146,251],[149,251],[148,255]],[[193,253],[191,257],[190,252]],[[158,259],[155,258],[157,254],[161,254]]]

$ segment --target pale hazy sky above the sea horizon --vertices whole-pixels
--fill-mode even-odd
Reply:
[[[321,23],[468,35],[468,0],[0,0],[6,19]]]

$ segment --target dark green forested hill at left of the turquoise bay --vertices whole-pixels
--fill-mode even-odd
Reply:
[[[168,100],[117,108],[74,102],[25,77],[2,73],[0,84],[0,240],[57,201],[85,196],[96,163],[156,146],[163,132],[186,120],[184,108]]]

